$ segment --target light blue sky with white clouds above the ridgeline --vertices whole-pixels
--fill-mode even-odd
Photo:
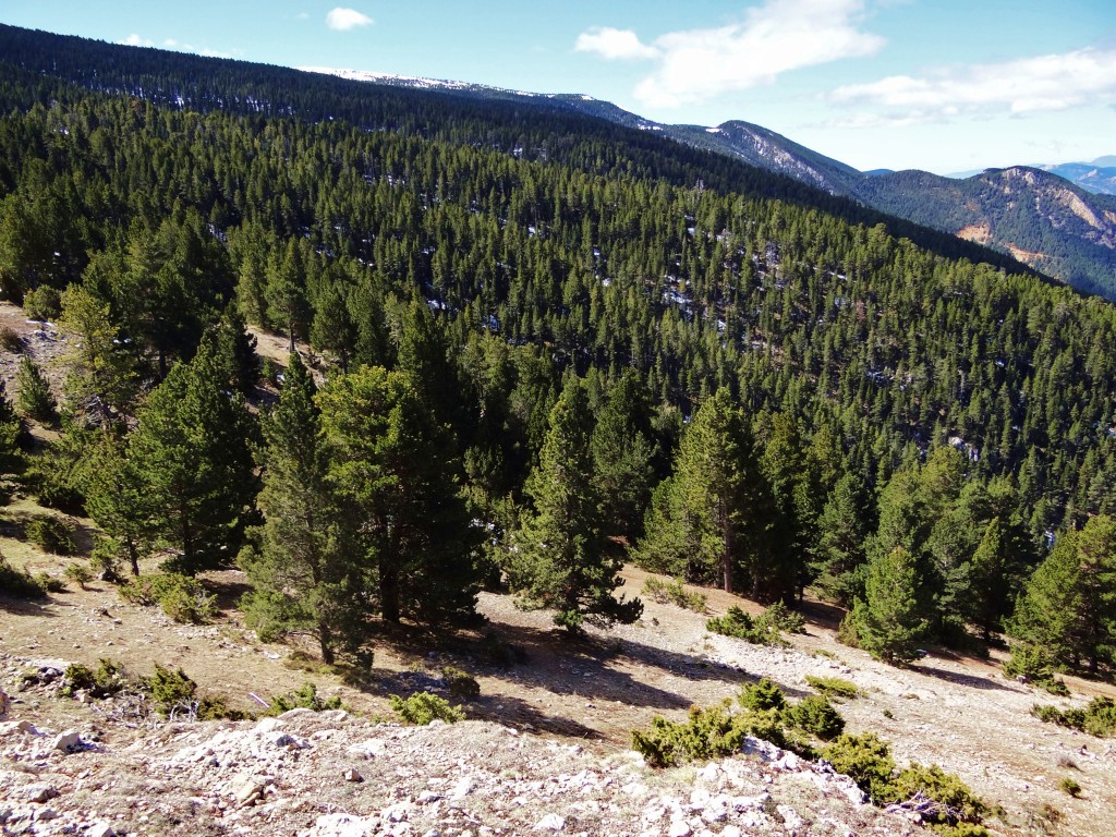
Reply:
[[[858,169],[1116,154],[1112,0],[0,0],[0,21],[758,123]]]

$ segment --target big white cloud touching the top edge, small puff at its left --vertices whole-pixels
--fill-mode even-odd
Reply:
[[[884,39],[859,28],[863,12],[864,0],[766,0],[740,23],[667,32],[650,46],[631,31],[595,29],[583,32],[576,48],[655,58],[658,68],[635,95],[645,105],[676,107],[769,85],[801,67],[874,55]]]

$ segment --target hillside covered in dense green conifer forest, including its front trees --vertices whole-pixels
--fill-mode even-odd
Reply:
[[[501,576],[571,631],[636,618],[626,543],[764,602],[817,583],[903,658],[882,568],[912,625],[998,631],[1089,520],[1059,542],[1099,556],[1067,589],[1103,629],[1043,643],[1106,663],[1110,305],[604,123],[156,58],[96,92],[0,65],[0,292],[79,345],[37,485],[105,555],[239,560],[261,629],[328,657]],[[262,430],[246,319],[325,373],[292,360]]]

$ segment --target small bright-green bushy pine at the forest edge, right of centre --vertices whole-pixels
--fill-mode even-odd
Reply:
[[[918,606],[914,556],[903,547],[874,558],[864,579],[864,598],[853,607],[862,648],[888,663],[918,656],[916,643],[926,629]]]

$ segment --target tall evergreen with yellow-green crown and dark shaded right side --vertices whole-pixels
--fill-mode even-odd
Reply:
[[[411,376],[362,366],[329,381],[318,403],[335,451],[329,479],[354,506],[383,618],[471,616],[477,533],[460,464]]]

